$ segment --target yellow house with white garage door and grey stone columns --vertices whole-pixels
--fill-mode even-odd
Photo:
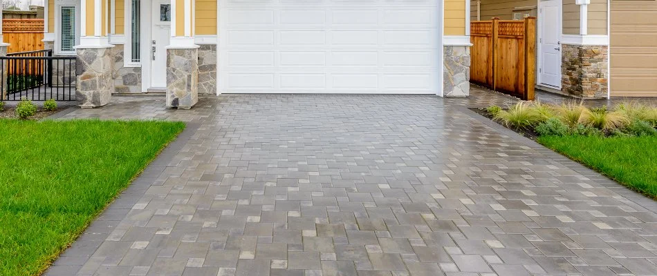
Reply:
[[[82,106],[112,92],[469,91],[468,0],[46,0],[46,48],[77,55]]]

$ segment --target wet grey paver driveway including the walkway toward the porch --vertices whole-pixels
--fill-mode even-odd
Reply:
[[[46,275],[655,275],[657,204],[465,108],[511,101],[76,109],[189,126]]]

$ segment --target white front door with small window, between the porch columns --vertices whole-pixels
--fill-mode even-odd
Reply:
[[[171,37],[171,0],[153,0],[151,7],[151,88],[167,87],[167,46]]]

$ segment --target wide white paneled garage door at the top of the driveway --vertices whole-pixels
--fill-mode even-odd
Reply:
[[[219,0],[221,93],[440,94],[438,0]]]

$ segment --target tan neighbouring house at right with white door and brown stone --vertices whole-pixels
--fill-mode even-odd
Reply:
[[[470,3],[472,20],[527,16],[537,17],[537,88],[584,98],[657,97],[657,1]]]

